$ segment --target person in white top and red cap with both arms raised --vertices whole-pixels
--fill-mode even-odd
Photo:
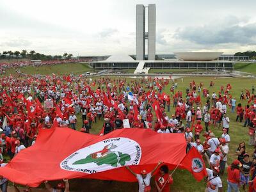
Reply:
[[[129,166],[125,166],[125,168],[127,168],[127,170],[129,170],[129,172],[131,172],[138,180],[139,192],[151,191],[150,179],[161,163],[162,162],[159,161],[151,172],[148,173],[147,170],[141,170],[140,174],[134,173]]]

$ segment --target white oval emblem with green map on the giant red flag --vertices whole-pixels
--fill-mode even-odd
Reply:
[[[97,173],[120,166],[139,164],[140,145],[129,138],[109,138],[81,148],[60,163],[63,170]]]

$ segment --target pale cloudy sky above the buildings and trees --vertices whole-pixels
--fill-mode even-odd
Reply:
[[[0,52],[135,54],[136,4],[156,4],[156,52],[256,50],[255,0],[0,0]]]

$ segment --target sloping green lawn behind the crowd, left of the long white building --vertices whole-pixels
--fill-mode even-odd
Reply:
[[[41,74],[41,75],[49,75],[49,74],[83,74],[84,72],[88,72],[93,70],[86,63],[65,63],[51,66],[40,66],[40,67],[20,67],[19,70],[25,74]],[[10,68],[6,70],[6,74],[15,74],[15,69]]]

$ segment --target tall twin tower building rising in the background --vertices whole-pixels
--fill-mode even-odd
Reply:
[[[136,60],[145,60],[145,40],[148,42],[148,60],[156,60],[156,4],[136,5]]]

